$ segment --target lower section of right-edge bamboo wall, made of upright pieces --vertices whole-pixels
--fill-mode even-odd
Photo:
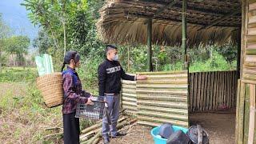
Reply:
[[[256,82],[238,81],[236,143],[256,143],[255,93]]]

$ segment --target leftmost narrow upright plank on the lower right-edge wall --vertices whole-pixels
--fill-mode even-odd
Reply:
[[[244,109],[245,109],[245,94],[246,94],[246,88],[245,84],[241,82],[241,88],[240,88],[240,102],[239,102],[239,120],[238,120],[238,144],[243,143],[243,124],[244,124]]]

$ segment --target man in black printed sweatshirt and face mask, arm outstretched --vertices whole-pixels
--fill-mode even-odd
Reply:
[[[98,66],[98,92],[99,95],[105,96],[107,109],[110,112],[111,122],[111,125],[109,125],[106,116],[102,119],[102,137],[104,138],[104,143],[110,142],[110,136],[114,138],[123,135],[118,133],[116,127],[119,114],[119,94],[122,85],[121,78],[125,80],[135,81],[138,79],[146,79],[146,76],[131,76],[126,74],[126,72],[122,69],[122,66],[118,62],[117,47],[107,45],[106,60],[102,62],[100,66]]]

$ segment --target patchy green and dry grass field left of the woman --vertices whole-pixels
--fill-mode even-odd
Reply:
[[[45,106],[35,84],[36,69],[6,68],[0,75],[0,90],[6,90],[0,94],[0,142],[60,143],[62,136],[44,138],[56,133],[46,131],[47,127],[62,127],[62,106]],[[81,120],[80,126],[83,129],[92,123]]]

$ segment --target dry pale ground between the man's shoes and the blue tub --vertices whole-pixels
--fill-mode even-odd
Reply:
[[[110,138],[110,144],[154,144],[148,126],[140,126],[136,123],[134,125],[125,126],[121,132],[126,132],[126,136],[122,138]],[[101,140],[101,142],[103,141]]]

